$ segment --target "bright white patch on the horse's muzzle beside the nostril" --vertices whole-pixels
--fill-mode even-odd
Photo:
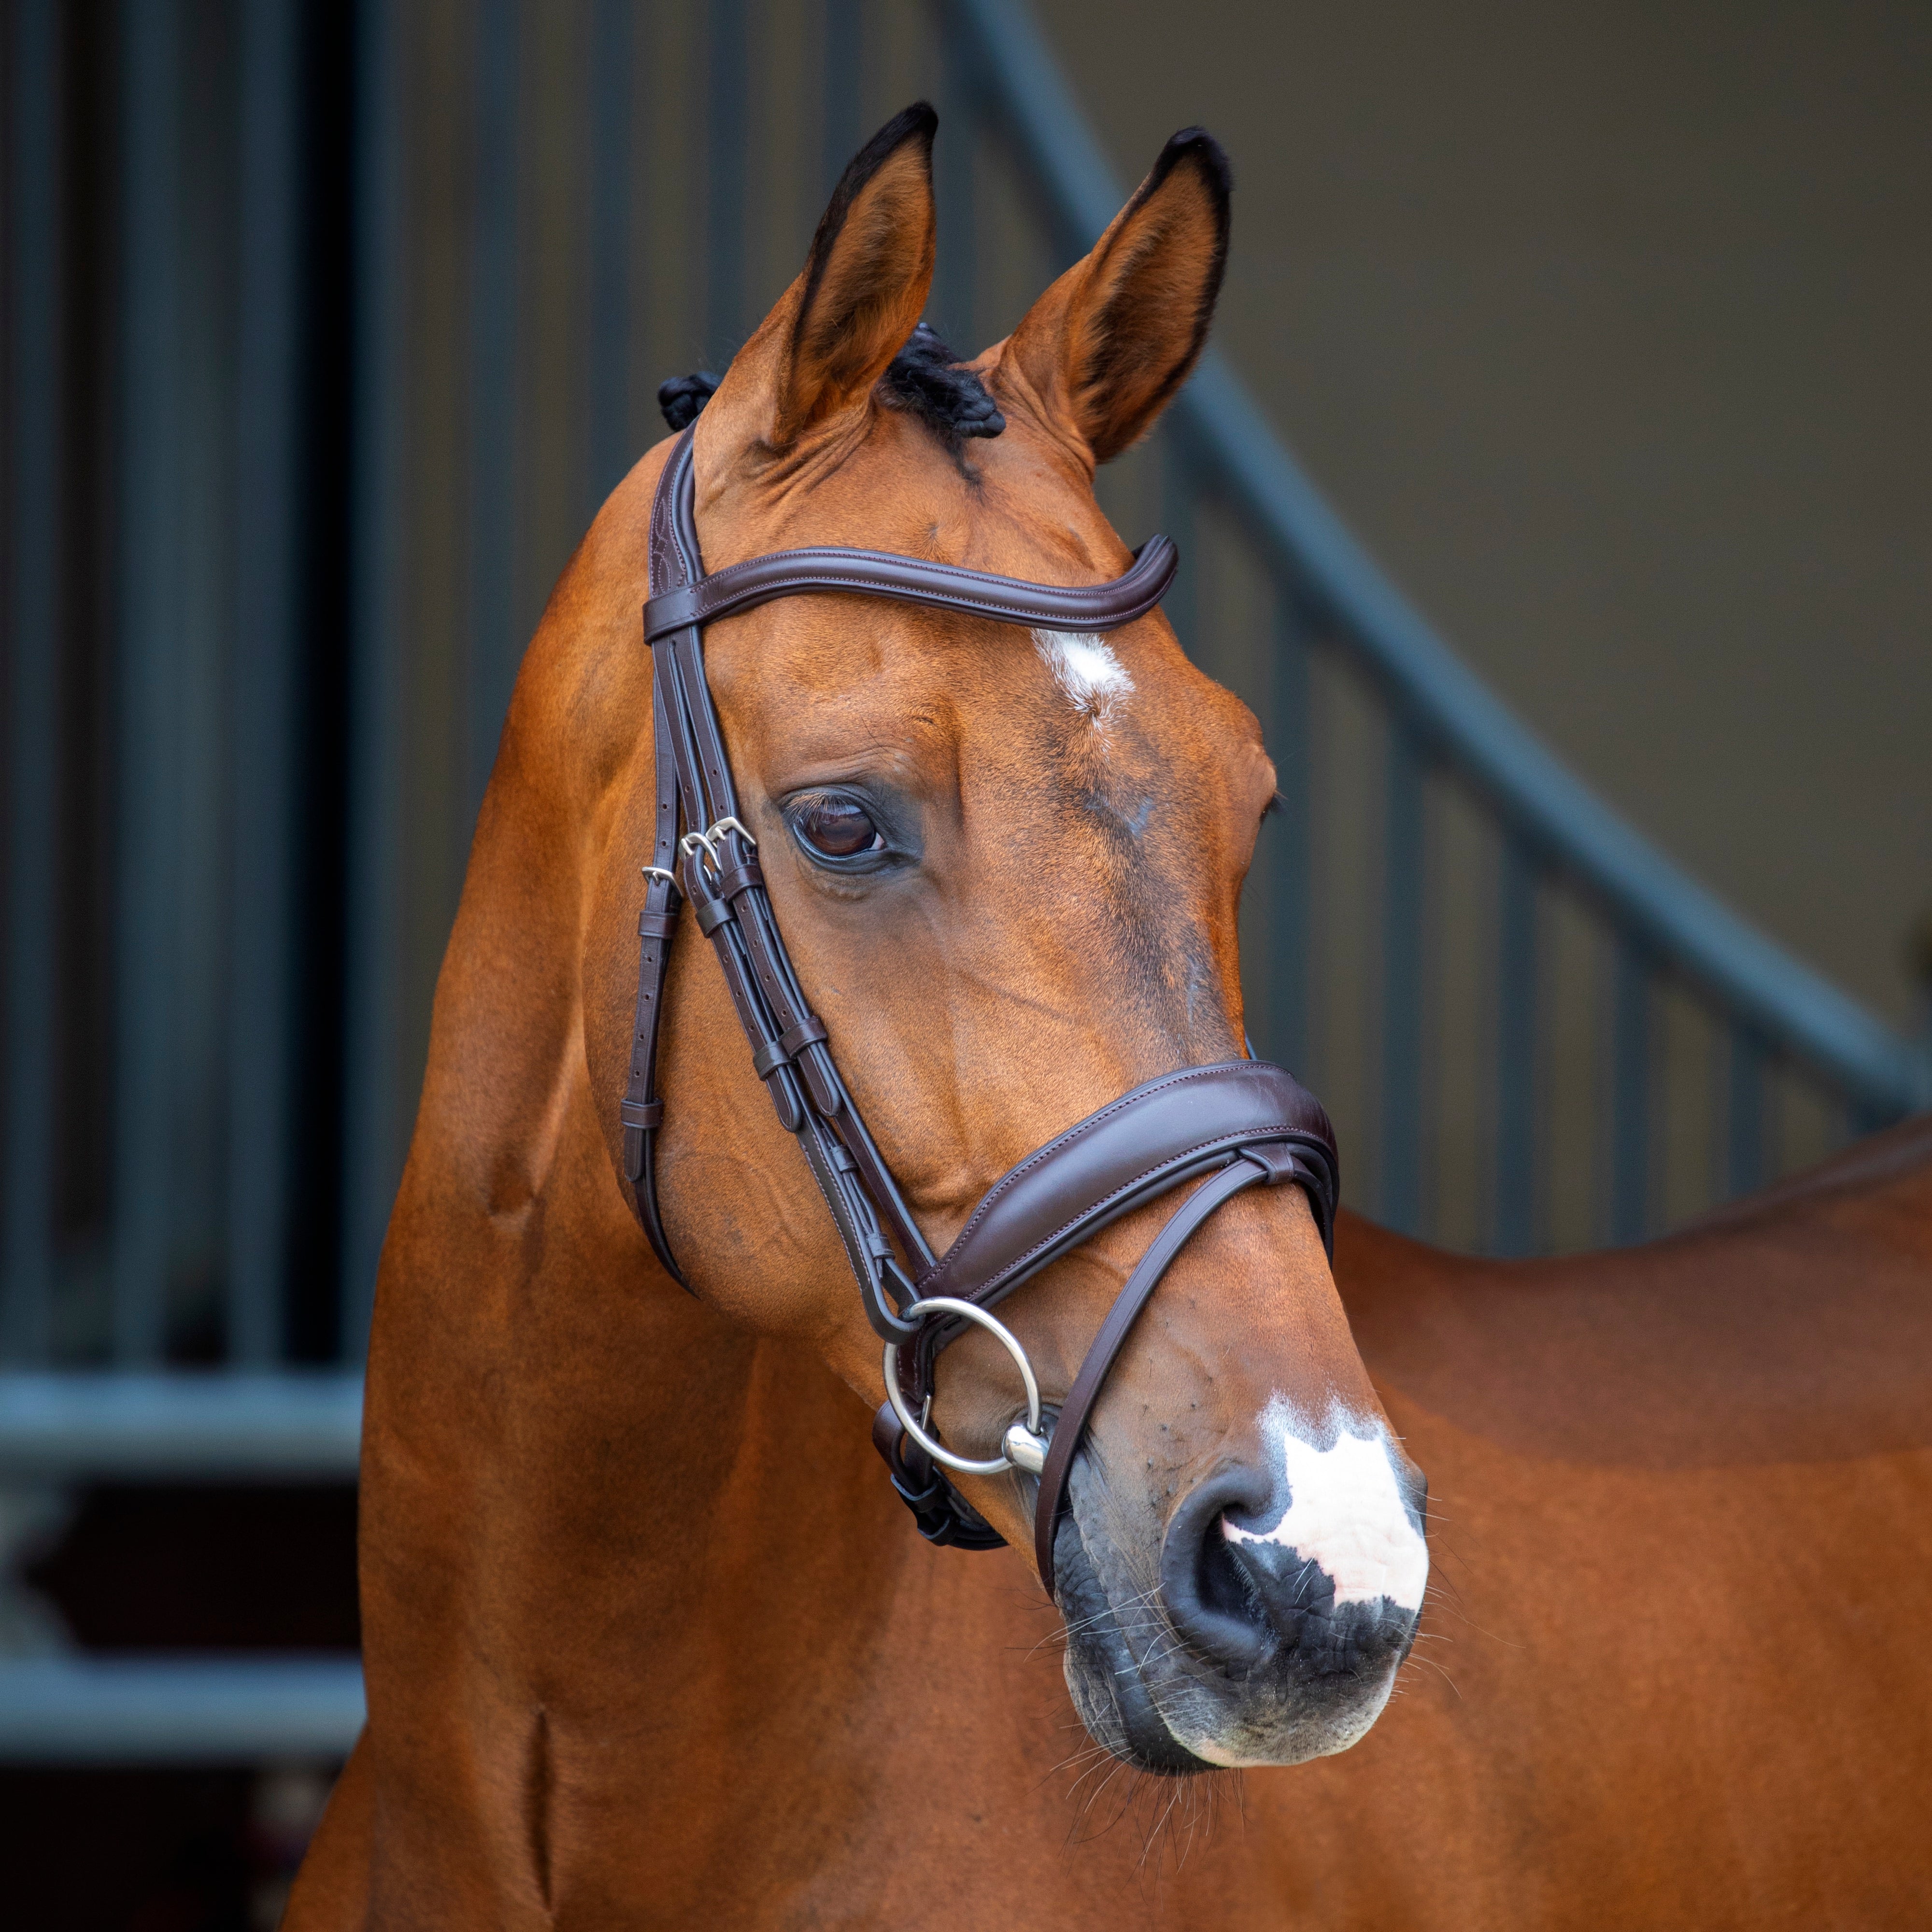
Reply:
[[[1430,1546],[1403,1503],[1381,1432],[1350,1435],[1343,1424],[1333,1447],[1318,1449],[1294,1432],[1289,1405],[1277,1395],[1262,1410],[1262,1439],[1289,1488],[1289,1507],[1269,1530],[1242,1530],[1223,1517],[1227,1540],[1279,1544],[1320,1563],[1335,1582],[1337,1604],[1385,1596],[1403,1609],[1420,1609]]]

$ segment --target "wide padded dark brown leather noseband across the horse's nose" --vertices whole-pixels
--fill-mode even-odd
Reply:
[[[1335,1132],[1321,1101],[1267,1061],[1188,1066],[1122,1094],[1030,1153],[974,1208],[920,1294],[991,1306],[1055,1256],[1242,1148],[1279,1148],[1335,1250]]]

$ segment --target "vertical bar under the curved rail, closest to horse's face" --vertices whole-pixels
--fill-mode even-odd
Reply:
[[[1275,757],[1275,823],[1269,838],[1267,983],[1269,1034],[1279,1061],[1302,1080],[1314,1080],[1308,1051],[1314,1024],[1308,1001],[1314,991],[1310,966],[1314,910],[1314,786],[1310,782],[1314,734],[1310,705],[1314,678],[1308,665],[1308,630],[1293,593],[1275,599],[1275,661],[1269,678],[1267,746]]]

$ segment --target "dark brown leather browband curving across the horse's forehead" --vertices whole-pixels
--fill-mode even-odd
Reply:
[[[1180,553],[1167,537],[1150,537],[1134,553],[1134,568],[1111,583],[1066,585],[997,578],[987,570],[929,564],[889,551],[773,551],[696,583],[659,591],[643,607],[643,636],[657,643],[674,630],[713,624],[798,591],[860,591],[1037,630],[1119,630],[1146,616],[1167,595],[1179,564]]]

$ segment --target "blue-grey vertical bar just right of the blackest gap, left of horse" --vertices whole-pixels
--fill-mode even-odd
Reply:
[[[377,1256],[402,1173],[402,129],[396,10],[355,12],[355,354],[350,526],[348,987],[340,1347],[369,1345]]]

